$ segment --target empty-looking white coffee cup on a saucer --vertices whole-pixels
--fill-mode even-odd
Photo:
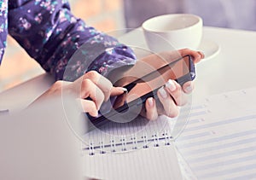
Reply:
[[[143,22],[148,48],[153,52],[197,49],[201,44],[202,19],[191,14],[160,15]]]

